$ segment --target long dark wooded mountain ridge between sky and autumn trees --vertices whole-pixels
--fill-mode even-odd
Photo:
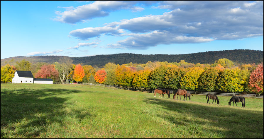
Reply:
[[[16,61],[22,61],[26,59],[30,63],[46,62],[53,64],[61,58],[69,56],[16,56],[6,59],[1,59],[1,66],[5,65],[5,61],[9,64],[16,64]],[[108,55],[96,55],[96,56],[85,56],[85,57],[69,57],[73,60],[73,64],[82,63],[83,65],[92,65],[102,67],[108,62],[114,62],[116,64],[127,64],[127,63],[141,63],[145,64],[148,61],[168,61],[168,62],[185,62],[193,64],[213,64],[215,60],[226,58],[234,63],[261,63],[263,62],[263,51],[259,50],[225,50],[225,51],[209,51],[199,52],[193,54],[108,54]],[[13,61],[11,61],[14,59]],[[11,62],[10,62],[11,61]]]

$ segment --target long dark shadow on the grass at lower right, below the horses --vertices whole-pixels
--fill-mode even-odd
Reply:
[[[218,134],[223,138],[263,138],[263,111],[212,107],[210,104],[204,106],[157,98],[144,99],[144,102],[160,105],[175,112],[175,115],[164,113],[157,116],[167,119],[176,126],[193,128],[190,126],[198,125],[202,131]],[[195,128],[192,130],[199,132]]]

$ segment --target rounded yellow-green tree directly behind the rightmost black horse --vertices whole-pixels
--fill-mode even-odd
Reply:
[[[235,70],[225,69],[220,71],[217,78],[216,88],[225,92],[243,92],[243,82]]]

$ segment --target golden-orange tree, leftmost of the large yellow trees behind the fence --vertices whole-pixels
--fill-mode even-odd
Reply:
[[[116,68],[116,84],[125,87],[131,87],[134,75],[135,74],[131,68],[128,68],[124,65],[118,66]]]

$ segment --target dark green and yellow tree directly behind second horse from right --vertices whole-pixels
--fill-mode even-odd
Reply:
[[[219,72],[218,68],[208,68],[205,70],[198,80],[198,88],[209,92],[214,91]]]

